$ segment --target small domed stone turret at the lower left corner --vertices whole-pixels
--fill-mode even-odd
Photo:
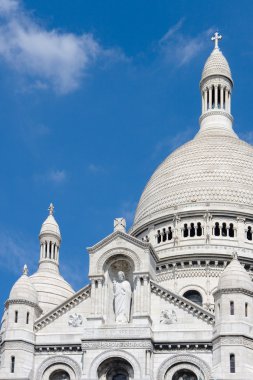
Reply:
[[[41,312],[37,292],[25,265],[22,276],[13,285],[5,304],[1,379],[10,378],[10,374],[14,374],[12,376],[15,378],[30,376],[35,344],[33,326]]]

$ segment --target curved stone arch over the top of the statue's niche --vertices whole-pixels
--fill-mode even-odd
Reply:
[[[97,272],[102,273],[105,265],[109,264],[116,256],[122,256],[128,260],[130,259],[133,263],[133,270],[140,271],[140,259],[134,251],[128,248],[113,248],[100,257],[97,263]]]

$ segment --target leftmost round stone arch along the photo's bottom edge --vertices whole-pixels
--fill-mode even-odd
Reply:
[[[48,380],[44,377],[49,378],[50,374],[58,369],[70,370],[70,380],[81,379],[82,372],[78,363],[67,356],[57,355],[47,358],[41,363],[37,370],[36,380]]]

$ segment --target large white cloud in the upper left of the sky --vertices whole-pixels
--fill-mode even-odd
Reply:
[[[30,87],[66,94],[77,89],[97,58],[122,59],[117,49],[103,49],[92,34],[47,30],[17,0],[0,0],[0,59],[32,79]]]

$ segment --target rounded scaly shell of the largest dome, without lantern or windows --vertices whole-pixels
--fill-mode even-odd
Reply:
[[[169,155],[142,193],[133,228],[208,203],[253,206],[253,147],[232,130],[201,131]]]

